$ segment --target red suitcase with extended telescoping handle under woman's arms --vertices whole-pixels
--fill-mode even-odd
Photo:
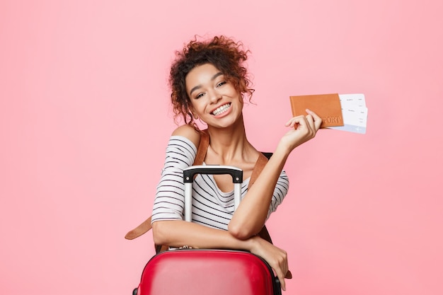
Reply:
[[[185,220],[191,221],[192,181],[197,173],[230,174],[234,207],[243,171],[231,166],[191,166],[183,171]],[[144,267],[134,295],[277,295],[280,282],[257,255],[241,250],[175,249],[155,255]]]

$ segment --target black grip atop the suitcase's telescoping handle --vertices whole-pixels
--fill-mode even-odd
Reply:
[[[192,183],[196,174],[229,174],[232,176],[233,183],[243,182],[243,170],[234,166],[223,165],[190,166],[183,169],[183,181]]]

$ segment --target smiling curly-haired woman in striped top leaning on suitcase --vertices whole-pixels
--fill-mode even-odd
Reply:
[[[157,187],[152,216],[154,242],[159,245],[192,248],[245,249],[260,255],[275,270],[285,289],[287,253],[257,236],[269,214],[288,189],[282,171],[294,148],[312,139],[321,118],[306,110],[306,116],[293,117],[277,147],[254,185],[246,189],[258,159],[246,138],[243,123],[243,96],[251,100],[253,89],[243,63],[248,51],[241,42],[227,37],[191,41],[171,67],[171,99],[174,111],[185,125],[172,134],[166,161]],[[193,221],[183,221],[183,168],[191,166],[200,143],[195,124],[207,125],[209,146],[204,163],[236,166],[243,170],[242,201],[234,213],[233,184],[229,175],[198,175],[193,194]]]

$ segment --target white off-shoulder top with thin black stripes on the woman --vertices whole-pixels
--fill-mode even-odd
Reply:
[[[197,148],[181,136],[172,136],[166,147],[166,159],[157,185],[152,222],[159,220],[183,220],[184,192],[183,169],[192,166]],[[241,185],[241,198],[248,191],[249,178]],[[277,180],[267,218],[283,201],[289,188],[284,171]],[[222,192],[212,175],[197,175],[192,184],[192,222],[215,229],[228,229],[234,214],[234,191]]]

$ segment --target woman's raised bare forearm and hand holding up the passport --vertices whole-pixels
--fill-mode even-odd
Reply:
[[[308,115],[293,117],[287,122],[291,130],[280,139],[277,149],[242,199],[229,223],[229,232],[239,239],[257,234],[265,224],[275,185],[289,154],[300,144],[315,137],[321,117],[306,110]]]

